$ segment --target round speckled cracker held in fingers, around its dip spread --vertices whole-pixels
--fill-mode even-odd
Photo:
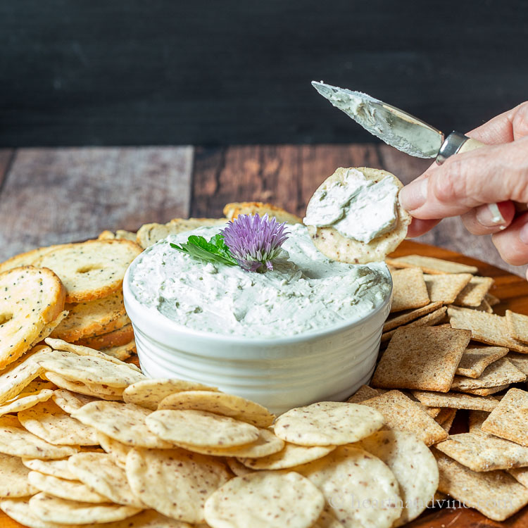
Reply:
[[[325,191],[327,187],[337,182],[344,182],[348,174],[347,168],[338,168],[332,176],[328,177],[320,187],[315,191],[314,196],[310,202],[319,196],[321,191]],[[386,177],[391,178],[398,189],[403,187],[403,184],[396,176],[387,172],[386,170],[372,169],[367,167],[358,167],[354,170],[362,172],[367,180],[372,182],[379,182]],[[308,208],[310,207],[308,203]],[[315,227],[308,225],[308,232],[312,237],[315,247],[324,253],[332,260],[339,260],[351,264],[365,264],[369,262],[377,262],[384,260],[385,257],[394,251],[407,236],[407,228],[412,220],[410,214],[403,209],[398,200],[396,200],[396,225],[394,228],[384,234],[379,235],[370,242],[362,242],[354,239],[344,237],[334,227]],[[348,214],[354,214],[353,210]],[[368,210],[360,210],[357,214],[369,214]]]

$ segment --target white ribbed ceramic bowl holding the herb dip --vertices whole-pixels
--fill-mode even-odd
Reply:
[[[390,293],[366,318],[348,325],[278,339],[231,337],[186,328],[139,303],[130,290],[133,266],[123,294],[146,376],[218,386],[277,414],[344,400],[372,376]]]

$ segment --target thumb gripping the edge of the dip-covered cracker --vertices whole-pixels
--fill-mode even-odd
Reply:
[[[447,218],[484,203],[528,202],[528,137],[456,154],[400,191],[415,218]]]

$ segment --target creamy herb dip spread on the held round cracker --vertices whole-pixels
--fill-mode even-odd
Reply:
[[[341,181],[315,191],[303,222],[368,243],[396,226],[398,190],[391,177],[373,182],[360,170],[347,169]]]

